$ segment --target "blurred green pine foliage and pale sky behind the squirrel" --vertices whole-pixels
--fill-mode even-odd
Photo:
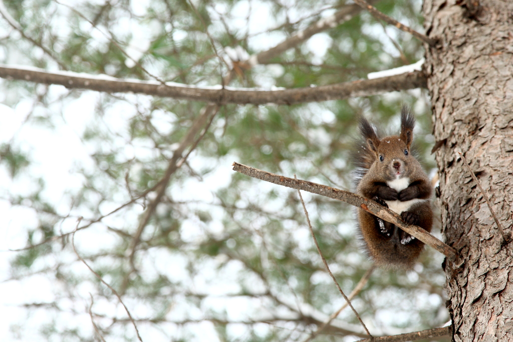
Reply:
[[[359,12],[263,64],[245,63],[348,6],[330,0],[3,3],[1,63],[49,72],[298,88],[365,79],[423,55],[410,35]],[[420,1],[375,5],[422,30]],[[433,166],[428,100],[419,89],[290,106],[225,104],[186,146],[183,156],[190,155],[136,237],[174,151],[208,104],[9,79],[0,86],[9,122],[0,145],[2,246],[16,250],[5,254],[0,285],[12,294],[2,328],[11,339],[137,340],[119,299],[74,253],[70,233],[78,228],[78,255],[121,295],[145,341],[305,340],[344,299],[297,192],[234,173],[231,163],[350,189],[357,116],[397,127],[408,104],[419,153]],[[303,196],[321,250],[349,293],[371,267],[358,248],[353,209]],[[411,273],[372,273],[352,303],[373,335],[447,322],[442,259],[427,249]],[[363,328],[345,309],[315,340],[359,336]]]

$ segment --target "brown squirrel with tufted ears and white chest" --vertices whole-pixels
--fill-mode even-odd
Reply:
[[[401,215],[406,224],[431,231],[431,183],[410,151],[415,118],[403,106],[399,136],[380,139],[363,117],[362,140],[353,153],[356,193]],[[358,209],[358,223],[367,254],[384,268],[409,270],[424,243],[392,223]]]

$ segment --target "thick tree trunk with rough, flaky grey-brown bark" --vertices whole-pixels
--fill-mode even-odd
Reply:
[[[425,0],[426,51],[440,174],[442,232],[465,262],[446,262],[454,341],[513,340],[513,243],[505,244],[457,152],[511,232],[513,1]]]

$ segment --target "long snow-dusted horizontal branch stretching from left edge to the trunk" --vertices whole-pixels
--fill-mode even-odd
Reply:
[[[406,72],[372,80],[358,80],[319,87],[259,90],[255,88],[195,87],[185,84],[157,81],[123,80],[108,75],[90,75],[75,72],[47,72],[32,67],[12,67],[0,64],[0,78],[43,84],[60,84],[70,89],[89,89],[105,92],[140,93],[179,100],[205,101],[219,105],[235,104],[298,104],[351,97],[367,97],[390,91],[426,88],[427,79],[420,71]],[[227,82],[225,82],[227,84]]]

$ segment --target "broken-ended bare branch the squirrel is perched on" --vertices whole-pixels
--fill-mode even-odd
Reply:
[[[300,179],[293,179],[281,175],[271,174],[269,172],[259,170],[258,168],[246,166],[243,164],[234,162],[232,165],[234,171],[240,172],[246,176],[258,178],[266,182],[287,186],[294,189],[301,189],[313,194],[318,194],[329,198],[337,199],[349,203],[351,205],[357,206],[359,208],[362,208],[363,210],[371,213],[374,216],[381,218],[382,220],[397,225],[406,233],[416,237],[417,239],[421,240],[422,242],[426,243],[427,245],[436,249],[438,252],[445,255],[450,261],[454,262],[457,265],[460,264],[458,252],[451,246],[448,246],[447,244],[443,243],[442,241],[432,236],[419,226],[406,225],[401,219],[401,216],[372,200],[369,200],[360,195],[353,194],[341,189],[313,182],[308,182]]]

